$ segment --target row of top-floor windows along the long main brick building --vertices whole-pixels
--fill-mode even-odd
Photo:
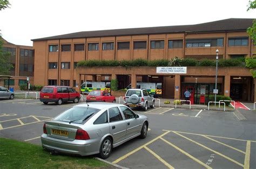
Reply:
[[[189,39],[186,40],[186,47],[214,47],[223,46],[223,38],[215,39]],[[169,40],[168,48],[183,48],[183,40]],[[164,40],[151,40],[151,49],[163,49]],[[248,38],[228,38],[228,46],[248,46]],[[147,48],[146,41],[134,41],[133,49],[141,50]],[[118,42],[118,50],[130,50],[130,42]],[[71,51],[71,45],[61,45],[62,52]],[[98,51],[99,43],[88,44],[88,51]],[[102,43],[102,50],[114,50],[114,43]],[[50,52],[58,52],[58,45],[50,45]],[[84,44],[75,44],[75,51],[84,51]]]

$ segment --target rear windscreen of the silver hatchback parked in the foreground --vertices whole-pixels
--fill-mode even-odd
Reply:
[[[100,109],[90,107],[73,107],[64,111],[53,120],[82,124],[85,119],[89,118],[98,111],[100,111]]]

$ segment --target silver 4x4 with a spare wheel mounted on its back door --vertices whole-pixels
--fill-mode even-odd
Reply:
[[[154,108],[155,98],[146,89],[128,89],[125,93],[124,104],[129,107],[143,108],[144,111],[150,107]]]

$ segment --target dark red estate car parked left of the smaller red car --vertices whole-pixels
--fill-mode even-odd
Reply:
[[[40,101],[44,104],[55,102],[60,105],[68,101],[78,103],[79,100],[80,94],[69,86],[44,86],[40,92]]]

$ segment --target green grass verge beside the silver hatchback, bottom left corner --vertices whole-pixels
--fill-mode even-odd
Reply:
[[[101,168],[109,166],[93,157],[51,155],[42,146],[0,138],[0,168]]]

